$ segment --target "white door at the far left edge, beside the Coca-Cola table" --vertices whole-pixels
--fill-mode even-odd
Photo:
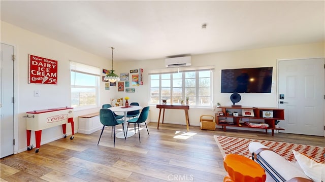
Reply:
[[[13,46],[1,44],[0,61],[0,157],[14,154],[14,62]]]

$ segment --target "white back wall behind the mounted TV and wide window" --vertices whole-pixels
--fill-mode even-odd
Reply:
[[[213,100],[214,105],[217,102],[220,102],[221,105],[232,105],[232,102],[230,100],[231,93],[220,93],[221,69],[273,66],[273,85],[271,93],[241,93],[240,95],[242,99],[237,104],[255,107],[277,107],[277,60],[325,57],[324,44],[325,43],[322,42],[294,46],[192,55],[191,66],[215,66]],[[149,98],[148,71],[150,69],[165,69],[165,59],[123,62],[119,63],[116,67],[116,70],[118,70],[118,72],[127,72],[129,69],[136,68],[144,69],[144,86],[135,87],[136,93],[128,93],[127,95],[132,101],[138,101],[141,104],[146,105],[148,104]],[[118,95],[122,96],[125,95],[125,93],[118,93]],[[157,122],[159,110],[155,108],[155,105],[151,106],[150,113],[151,122]],[[190,108],[190,124],[193,126],[199,126],[201,115],[214,116],[214,113],[215,111],[213,111],[213,108]],[[185,125],[184,112],[182,110],[166,110],[164,123]],[[184,130],[185,129],[186,127],[184,127]]]

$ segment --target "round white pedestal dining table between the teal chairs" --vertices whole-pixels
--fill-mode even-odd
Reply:
[[[121,113],[124,113],[124,131],[126,133],[126,129],[127,129],[127,126],[126,126],[126,114],[127,112],[129,111],[137,111],[137,110],[141,110],[142,107],[141,106],[138,106],[138,105],[129,105],[129,106],[115,106],[115,107],[110,107],[108,108],[108,110],[111,110],[112,112],[121,112]],[[126,137],[131,137],[133,136],[134,134],[136,134],[134,132],[134,130],[129,130],[127,131],[127,136]],[[116,134],[116,137],[117,138],[124,138],[124,132],[119,132]]]

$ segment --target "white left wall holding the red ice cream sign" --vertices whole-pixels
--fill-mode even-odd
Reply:
[[[13,45],[15,49],[15,124],[18,126],[18,139],[16,138],[15,152],[26,150],[26,121],[23,116],[28,111],[44,110],[71,106],[70,102],[70,60],[108,68],[110,61],[88,52],[76,49],[42,35],[21,29],[17,26],[1,22],[1,43]],[[28,54],[54,59],[58,61],[57,85],[28,84]],[[101,88],[105,88],[101,82]],[[34,97],[34,90],[40,91],[40,97]],[[110,98],[115,97],[115,91],[100,90],[100,107],[103,103],[110,103]],[[78,129],[78,116],[98,112],[99,108],[90,111],[77,111],[74,113],[75,132]],[[71,134],[71,125],[67,125],[67,133]],[[42,131],[41,144],[62,137],[61,126]],[[32,132],[31,144],[35,144],[34,132]]]

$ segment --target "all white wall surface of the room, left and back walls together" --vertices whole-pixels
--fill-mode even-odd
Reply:
[[[69,60],[93,65],[102,68],[110,68],[110,60],[87,53],[77,48],[62,44],[42,35],[21,29],[17,26],[1,22],[1,42],[13,45],[16,54],[15,67],[15,123],[18,125],[18,147],[16,152],[26,150],[26,125],[22,118],[27,111],[42,110],[45,108],[70,106],[70,65]],[[108,45],[109,46],[109,45]],[[242,50],[232,52],[192,55],[192,66],[215,66],[214,75],[214,104],[231,105],[230,93],[220,93],[221,69],[273,66],[273,86],[271,93],[243,93],[242,100],[238,103],[243,106],[277,107],[277,60],[291,58],[325,57],[324,42],[294,46],[272,47],[254,50]],[[58,84],[36,85],[28,84],[28,54],[34,54],[58,61]],[[130,102],[139,102],[142,106],[149,103],[148,72],[151,69],[165,69],[165,59],[143,60],[136,62],[114,62],[116,74],[129,72],[131,69],[143,68],[144,85],[135,88],[135,93],[117,92],[117,87],[105,90],[105,83],[101,82],[101,103],[110,103],[110,98],[130,97]],[[132,74],[130,74],[131,77]],[[131,78],[130,78],[130,84]],[[34,97],[34,90],[40,91],[40,97]],[[89,111],[77,111],[74,113],[75,131],[78,129],[78,116],[98,112],[99,107]],[[157,122],[158,109],[155,105],[150,108],[150,120]],[[213,108],[190,108],[189,120],[193,126],[199,126],[201,115],[214,115]],[[166,110],[166,123],[184,124],[185,116],[181,110]],[[186,127],[184,126],[184,130]],[[60,126],[45,129],[42,133],[41,144],[62,137]],[[71,134],[71,128],[67,125],[67,132]],[[35,144],[34,135],[31,143]]]

